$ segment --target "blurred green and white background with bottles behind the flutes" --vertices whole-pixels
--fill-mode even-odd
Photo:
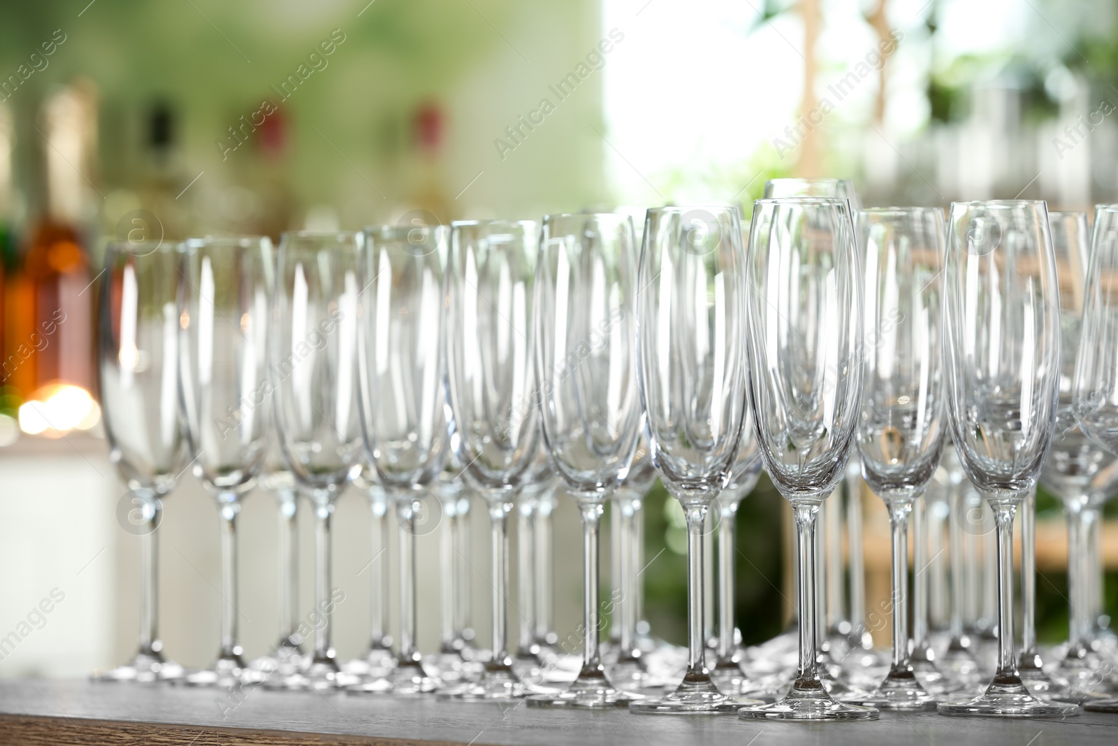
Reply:
[[[84,676],[134,645],[138,538],[100,433],[93,366],[106,240],[277,237],[413,210],[442,221],[588,207],[639,216],[692,199],[740,201],[748,216],[777,176],[850,177],[868,205],[1118,200],[1111,1],[58,0],[7,3],[0,19],[0,636],[54,588],[65,594],[41,630],[3,651],[0,676]],[[887,519],[877,498],[861,499],[874,607],[888,598]],[[660,488],[645,506],[648,621],[681,642],[681,516]],[[767,481],[739,512],[746,642],[779,631],[788,612],[784,513]],[[1065,544],[1044,494],[1039,520],[1040,634],[1057,642]],[[253,493],[240,525],[252,657],[277,629],[274,499]],[[344,660],[369,627],[362,495],[342,499],[337,526]],[[184,475],[160,528],[160,603],[165,649],[187,665],[217,649],[216,528]],[[310,608],[310,520],[303,528]],[[474,626],[485,630],[476,528]],[[436,540],[420,537],[421,556]],[[557,544],[576,541],[563,500]],[[563,639],[580,579],[557,565]],[[433,560],[420,583],[420,646],[432,650]]]

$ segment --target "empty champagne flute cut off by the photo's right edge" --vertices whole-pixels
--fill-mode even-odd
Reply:
[[[1071,407],[1082,432],[1108,454],[1118,454],[1118,205],[1097,205],[1091,234],[1090,261],[1083,292],[1083,315]],[[1109,494],[1096,493],[1080,507],[1080,549],[1084,554],[1080,601],[1086,620],[1077,625],[1081,636],[1096,634],[1098,569],[1092,556],[1097,550],[1096,526],[1099,508]],[[1074,598],[1072,598],[1074,602]],[[1093,712],[1118,712],[1118,699],[1091,701]]]

